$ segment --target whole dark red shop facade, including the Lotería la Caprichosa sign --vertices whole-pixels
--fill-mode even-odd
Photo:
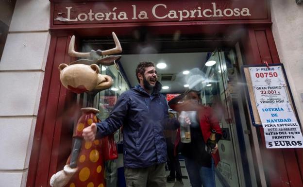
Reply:
[[[70,126],[71,122],[61,114],[76,102],[76,95],[61,85],[58,66],[73,60],[67,54],[72,35],[76,36],[76,50],[81,51],[82,39],[111,39],[111,33],[115,32],[121,39],[123,49],[123,39],[129,40],[136,29],[144,27],[160,38],[173,38],[176,33],[200,38],[205,44],[202,48],[213,49],[218,45],[234,46],[238,43],[243,65],[260,65],[264,61],[269,64],[283,63],[279,60],[271,31],[267,0],[50,2],[50,48],[27,187],[49,187],[51,175],[62,169],[70,153],[72,139],[66,126]],[[181,44],[177,48],[181,48]],[[256,149],[252,149],[257,186],[303,187],[302,149],[266,149],[263,128],[250,128],[255,128],[257,133],[254,138],[258,140],[253,143],[253,135],[249,135],[251,146],[259,150],[256,153]],[[262,167],[258,167],[260,163]]]

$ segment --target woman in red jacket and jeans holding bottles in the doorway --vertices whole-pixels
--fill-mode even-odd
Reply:
[[[185,99],[185,102],[178,103]],[[211,131],[216,130],[216,141],[222,136],[219,121],[214,111],[210,107],[199,104],[199,93],[189,90],[186,94],[181,94],[171,101],[168,105],[171,109],[181,111],[196,111],[197,117],[190,125],[191,142],[182,143],[180,141],[180,129],[178,129],[175,141],[175,153],[181,152],[185,156],[185,166],[188,172],[192,187],[215,187],[215,170],[219,162],[218,144],[211,154],[205,151],[205,144],[211,135]],[[197,121],[197,122],[194,122]]]

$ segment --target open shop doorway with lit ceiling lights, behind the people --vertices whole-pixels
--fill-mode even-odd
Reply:
[[[222,39],[223,37],[201,38],[175,34],[174,38],[168,38],[154,37],[148,33],[143,36],[136,39],[119,38],[123,48],[119,62],[120,71],[113,73],[112,76],[118,81],[118,76],[121,75],[126,85],[118,92],[113,90],[111,93],[101,92],[99,99],[96,100],[96,107],[99,104],[100,110],[104,108],[100,108],[100,101],[104,96],[118,97],[120,92],[138,84],[135,68],[140,61],[166,63],[166,68],[157,68],[158,80],[163,86],[167,86],[161,93],[181,94],[187,89],[197,90],[201,96],[200,103],[212,107],[218,114],[223,135],[218,143],[220,162],[215,170],[216,186],[261,186],[259,174],[256,174],[258,169],[254,164],[254,151],[251,148],[252,135],[243,91],[245,83],[242,83],[240,78],[243,59],[239,43]],[[107,46],[110,45],[111,41],[106,38],[82,41],[83,51],[109,49]],[[213,64],[207,63],[210,61],[213,61]],[[184,74],[185,70],[188,74]],[[119,86],[119,81],[114,84]],[[109,114],[108,108],[106,111]],[[106,115],[101,115],[102,119],[106,118]],[[123,136],[116,134],[116,137],[117,142],[123,141]],[[184,158],[182,155],[179,158],[184,187],[190,187]],[[117,170],[121,167],[119,163],[114,165]],[[118,175],[117,182],[108,183],[108,186],[123,186]],[[176,184],[168,183],[168,187],[173,186]]]

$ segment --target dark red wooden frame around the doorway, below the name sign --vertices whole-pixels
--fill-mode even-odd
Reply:
[[[51,9],[53,9],[53,5],[51,5]],[[75,102],[75,94],[69,92],[61,85],[58,66],[61,63],[72,61],[72,58],[67,54],[70,36],[75,34],[78,43],[81,38],[85,37],[111,37],[112,31],[123,37],[132,34],[139,26],[138,24],[109,24],[101,27],[98,24],[92,24],[86,28],[67,25],[50,29],[50,48],[26,186],[49,187],[50,176],[57,171],[58,160],[62,156],[59,154],[60,149],[63,149],[60,142],[64,141],[64,137],[61,135],[65,133],[62,132],[62,126],[68,125],[68,119],[62,118],[60,114],[68,105]],[[216,24],[158,23],[147,27],[151,32],[160,35],[173,34],[178,30],[182,34],[211,36],[214,29],[216,29],[221,32],[220,34],[236,37],[237,31],[241,30],[243,35],[240,37],[240,45],[242,46],[241,51],[244,55],[245,64],[262,64],[264,61],[269,64],[280,63],[270,22],[255,22],[252,24],[246,24],[245,22],[233,24],[224,21]],[[303,186],[302,149],[266,149],[263,128],[256,127],[255,130],[258,136],[258,145],[253,146],[260,147],[262,158],[273,159],[275,163],[275,166],[269,166],[266,161],[263,162],[268,186],[288,187],[287,182],[289,183],[289,181],[294,187],[296,185]],[[272,170],[276,172],[272,173]]]

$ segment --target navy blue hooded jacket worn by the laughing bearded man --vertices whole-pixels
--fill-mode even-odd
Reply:
[[[177,119],[168,119],[166,98],[156,83],[152,95],[140,85],[119,97],[110,116],[97,123],[96,138],[110,135],[123,125],[124,167],[142,168],[166,162],[167,147],[163,133],[176,129]]]

